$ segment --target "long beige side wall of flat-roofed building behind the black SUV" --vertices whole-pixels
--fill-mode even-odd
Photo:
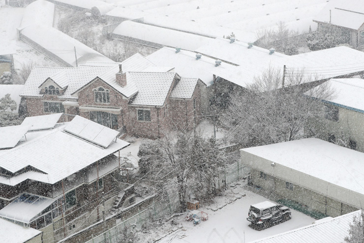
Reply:
[[[278,163],[241,151],[243,165],[251,168],[251,182],[282,198],[297,201],[321,213],[337,216],[360,209],[364,195],[325,182]],[[267,174],[267,180],[260,178],[260,172]],[[293,191],[286,188],[286,182],[293,184]],[[342,205],[341,205],[342,203]]]

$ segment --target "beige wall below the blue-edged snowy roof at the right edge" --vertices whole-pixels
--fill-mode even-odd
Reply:
[[[356,142],[355,150],[364,152],[364,113],[338,107],[339,120],[337,122],[323,119],[314,122],[315,130],[318,131],[317,138],[329,141],[329,136],[335,138],[346,138]]]

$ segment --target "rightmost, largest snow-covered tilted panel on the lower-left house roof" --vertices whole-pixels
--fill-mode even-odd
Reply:
[[[80,116],[73,118],[64,130],[103,148],[107,148],[119,135],[118,131]]]

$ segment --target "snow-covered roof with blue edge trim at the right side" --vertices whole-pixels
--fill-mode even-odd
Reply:
[[[327,99],[330,103],[364,113],[364,79],[347,78],[327,81],[334,95]],[[325,84],[326,85],[326,84]]]

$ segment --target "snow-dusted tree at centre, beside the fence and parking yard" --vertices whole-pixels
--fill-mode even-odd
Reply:
[[[199,199],[212,196],[214,179],[225,164],[224,152],[217,148],[214,139],[181,132],[147,143],[141,146],[140,153],[141,160],[149,162],[146,176],[159,181],[159,187],[177,191],[181,212],[186,210],[186,201],[192,195]]]

